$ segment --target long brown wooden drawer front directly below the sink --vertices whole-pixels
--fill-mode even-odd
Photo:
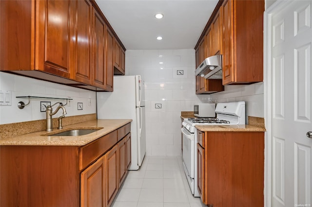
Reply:
[[[117,130],[79,149],[79,170],[84,169],[117,143]]]

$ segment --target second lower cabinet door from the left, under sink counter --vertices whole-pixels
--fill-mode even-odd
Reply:
[[[105,154],[106,205],[110,206],[118,191],[118,146]]]

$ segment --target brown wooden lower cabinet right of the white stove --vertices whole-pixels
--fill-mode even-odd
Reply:
[[[198,190],[213,207],[264,206],[264,132],[203,132]]]

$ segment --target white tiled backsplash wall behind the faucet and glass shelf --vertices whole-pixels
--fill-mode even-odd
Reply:
[[[94,91],[40,81],[4,72],[0,72],[0,90],[9,90],[12,92],[12,105],[0,106],[0,124],[43,120],[45,119],[45,112],[40,112],[40,101],[49,101],[51,104],[58,102],[57,100],[32,99],[29,105],[25,106],[23,109],[19,109],[18,103],[22,101],[26,104],[28,99],[16,98],[16,96],[54,98],[71,97],[73,100],[71,101],[70,106],[65,106],[67,111],[65,117],[97,113],[96,92]],[[91,99],[91,106],[88,104],[89,99]],[[83,110],[77,109],[78,102],[83,103]],[[66,101],[63,103],[65,104]],[[55,108],[56,106],[53,107],[53,111]],[[57,118],[61,116],[61,114],[62,110],[59,110],[53,118]]]

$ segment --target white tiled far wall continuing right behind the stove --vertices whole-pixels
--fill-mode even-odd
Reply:
[[[183,70],[183,75],[176,75],[176,70]],[[217,102],[246,101],[246,117],[263,117],[263,83],[195,95],[194,70],[192,49],[126,51],[126,75],[141,75],[145,81],[147,155],[180,155],[181,111],[192,111],[195,103],[210,97]]]

